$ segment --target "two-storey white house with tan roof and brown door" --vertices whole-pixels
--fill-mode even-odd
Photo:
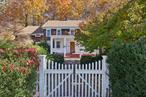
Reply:
[[[43,29],[46,29],[46,37],[49,38],[48,44],[51,54],[63,54],[64,57],[89,54],[84,52],[84,47],[74,40],[75,31],[80,29],[79,24],[81,22],[80,20],[49,20],[42,26]]]

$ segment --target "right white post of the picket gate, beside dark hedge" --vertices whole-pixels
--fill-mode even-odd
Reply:
[[[106,62],[107,56],[102,56],[102,97],[107,97],[107,89],[109,89],[109,77],[107,75],[108,72],[108,64]]]

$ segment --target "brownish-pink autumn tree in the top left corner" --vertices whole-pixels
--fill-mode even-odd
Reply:
[[[21,20],[21,8],[20,4],[14,1],[7,0],[3,5],[3,11],[0,13],[0,32],[15,32],[19,27],[16,23]]]

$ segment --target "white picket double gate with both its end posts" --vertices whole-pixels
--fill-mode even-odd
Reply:
[[[106,56],[91,64],[59,64],[39,56],[37,97],[109,97]]]

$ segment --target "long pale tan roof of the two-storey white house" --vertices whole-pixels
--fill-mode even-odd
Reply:
[[[42,27],[48,28],[48,27],[79,27],[79,24],[81,23],[81,20],[67,20],[67,21],[60,21],[60,20],[49,20],[47,21]]]

